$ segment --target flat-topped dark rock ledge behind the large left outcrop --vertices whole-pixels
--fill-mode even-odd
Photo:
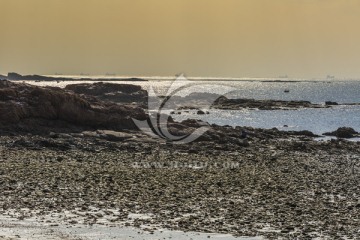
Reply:
[[[93,84],[70,84],[65,87],[77,94],[85,94],[97,97],[104,101],[117,103],[136,102],[145,104],[148,99],[148,93],[140,86],[132,84],[115,83],[93,83]]]

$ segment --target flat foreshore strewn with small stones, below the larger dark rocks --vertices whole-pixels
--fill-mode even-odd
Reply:
[[[359,143],[254,130],[247,147],[169,146],[128,134],[1,136],[1,214],[67,210],[85,224],[112,217],[149,231],[268,239],[360,236]]]

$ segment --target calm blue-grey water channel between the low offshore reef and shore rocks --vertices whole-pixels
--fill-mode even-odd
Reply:
[[[347,126],[360,131],[360,106],[334,106],[331,109],[297,110],[209,110],[197,115],[195,111],[182,112],[172,117],[177,121],[201,119],[210,124],[278,128],[284,131],[309,130],[321,135]]]

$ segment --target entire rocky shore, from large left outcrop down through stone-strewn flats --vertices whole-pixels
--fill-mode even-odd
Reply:
[[[132,124],[148,118],[139,104],[74,93],[74,86],[0,84],[2,215],[71,212],[63,217],[70,225],[148,232],[360,237],[360,142],[211,125],[196,141],[173,144]],[[168,129],[184,135],[202,124],[169,117]]]

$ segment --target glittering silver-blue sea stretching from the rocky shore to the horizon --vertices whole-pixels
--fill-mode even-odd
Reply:
[[[64,77],[64,76],[61,76]],[[69,77],[69,76],[66,76]],[[70,76],[74,79],[84,76]],[[86,76],[89,77],[89,76]],[[111,78],[111,76],[93,76]],[[218,110],[205,109],[209,114],[198,115],[196,111],[172,115],[175,120],[201,119],[210,124],[277,128],[285,131],[309,130],[322,135],[339,127],[352,127],[360,132],[360,79],[279,79],[279,78],[190,78],[142,77],[148,81],[124,81],[129,77],[116,77],[111,83],[140,85],[161,96],[188,95],[193,92],[224,94],[228,98],[251,98],[258,100],[305,100],[317,104],[337,102],[331,108],[301,108],[296,110]],[[65,87],[75,83],[94,81],[25,81],[38,86]],[[358,105],[356,105],[358,104]],[[328,137],[320,138],[327,140]],[[359,141],[360,139],[354,139]]]

